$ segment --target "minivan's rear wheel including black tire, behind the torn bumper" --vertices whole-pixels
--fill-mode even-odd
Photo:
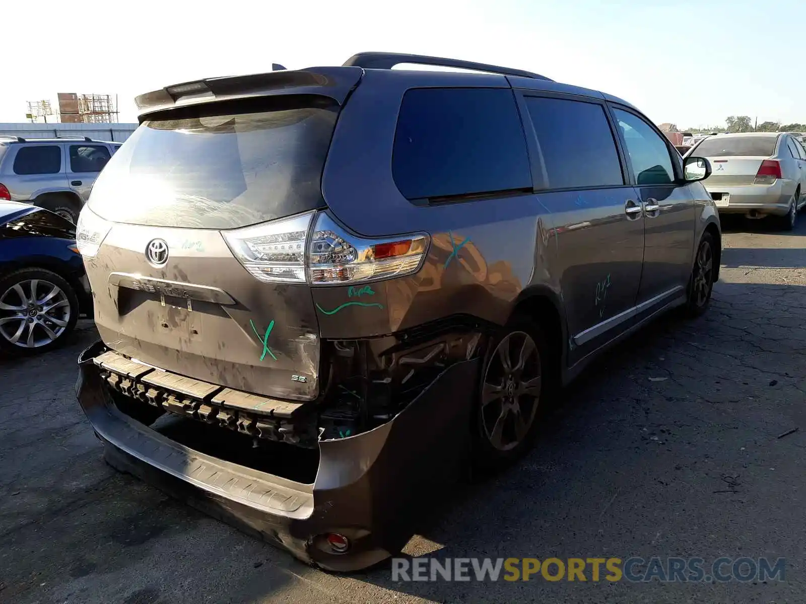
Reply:
[[[492,338],[472,412],[476,470],[501,469],[530,449],[549,371],[548,346],[539,325],[518,316]]]

